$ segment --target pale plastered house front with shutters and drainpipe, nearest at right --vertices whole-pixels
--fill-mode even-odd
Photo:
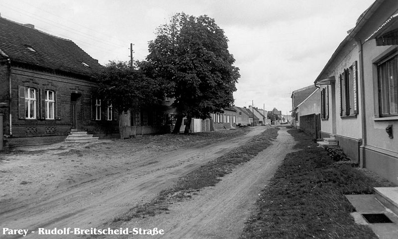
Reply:
[[[322,134],[398,183],[398,2],[376,0],[338,46],[315,85]]]

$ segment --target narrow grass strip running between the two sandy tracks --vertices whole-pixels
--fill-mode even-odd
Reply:
[[[113,222],[154,216],[167,211],[169,205],[174,201],[189,198],[193,194],[197,194],[201,188],[214,186],[221,180],[221,177],[231,173],[237,165],[251,160],[271,145],[278,135],[278,130],[279,128],[268,128],[248,143],[232,149],[223,156],[181,177],[173,187],[161,191],[151,202],[131,208],[127,213],[116,217]]]

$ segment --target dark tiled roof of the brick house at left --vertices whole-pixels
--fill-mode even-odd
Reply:
[[[103,69],[98,60],[90,57],[71,40],[2,17],[0,29],[0,51],[11,59],[11,63],[16,61],[86,76],[96,76]]]

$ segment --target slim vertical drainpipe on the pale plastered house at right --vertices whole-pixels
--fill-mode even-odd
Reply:
[[[366,157],[365,157],[365,146],[366,146],[366,107],[365,107],[365,76],[364,76],[364,54],[363,54],[363,45],[361,39],[358,39],[357,43],[360,46],[360,52],[359,52],[359,67],[361,68],[361,108],[362,108],[362,114],[361,114],[361,122],[362,122],[362,145],[360,146],[360,156],[362,154],[362,157],[359,157],[359,164],[360,167],[365,168],[366,167]]]

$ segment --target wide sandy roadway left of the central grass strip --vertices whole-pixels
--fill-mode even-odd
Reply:
[[[137,150],[104,143],[65,151],[9,155],[0,162],[0,228],[99,227],[129,208],[150,201],[176,179],[264,131],[172,151]],[[61,153],[57,153],[57,152]],[[66,153],[62,153],[62,152]],[[71,153],[72,152],[72,153]],[[71,237],[68,237],[71,238]]]

